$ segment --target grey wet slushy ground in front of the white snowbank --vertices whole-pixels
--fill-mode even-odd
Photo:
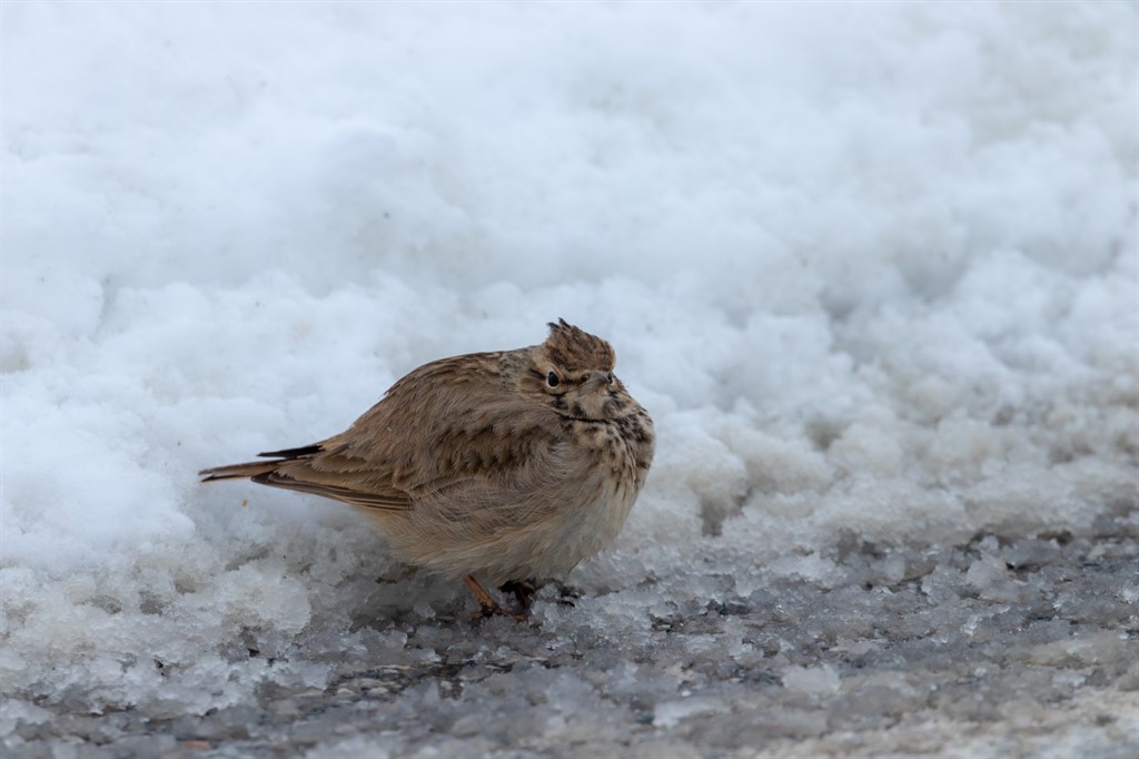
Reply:
[[[8,757],[978,756],[1139,750],[1134,514],[959,548],[841,542],[772,577],[697,571],[532,618],[362,606],[323,688],[204,717],[48,709]],[[705,549],[706,550],[706,549]],[[746,582],[738,581],[746,578]],[[655,598],[655,599],[650,599]]]

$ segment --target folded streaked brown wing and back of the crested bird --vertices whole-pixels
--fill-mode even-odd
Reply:
[[[565,430],[552,409],[501,384],[499,356],[416,369],[346,432],[255,481],[380,509],[437,504],[464,487],[500,496],[538,488],[534,472],[567,466]]]

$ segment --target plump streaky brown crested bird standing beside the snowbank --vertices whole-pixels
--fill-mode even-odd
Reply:
[[[541,345],[419,367],[328,440],[199,474],[343,500],[401,561],[462,577],[482,615],[506,612],[476,574],[526,607],[528,580],[613,541],[655,444],[613,348],[564,319],[549,326]]]

